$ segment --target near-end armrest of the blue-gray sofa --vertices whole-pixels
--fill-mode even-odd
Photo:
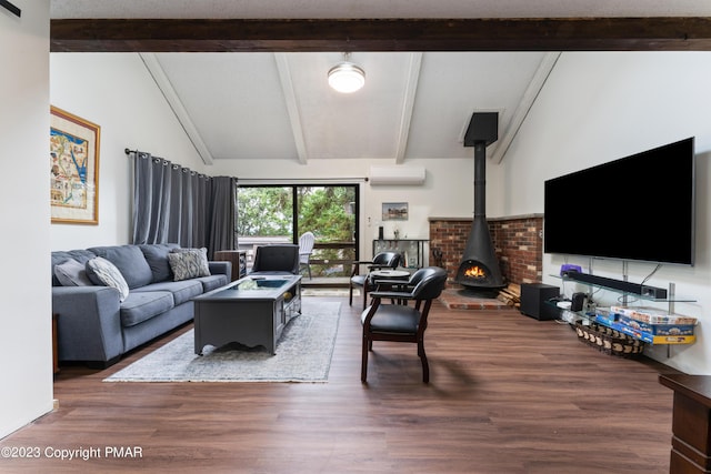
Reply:
[[[108,362],[123,353],[119,291],[109,286],[53,286],[60,361]]]

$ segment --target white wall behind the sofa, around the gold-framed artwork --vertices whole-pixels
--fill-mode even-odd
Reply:
[[[101,127],[99,225],[52,224],[52,250],[128,243],[132,158],[141,150],[202,172],[204,163],[136,53],[52,53],[54,107]]]

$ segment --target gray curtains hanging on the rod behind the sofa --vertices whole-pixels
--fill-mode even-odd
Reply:
[[[133,152],[133,243],[234,249],[234,179]]]

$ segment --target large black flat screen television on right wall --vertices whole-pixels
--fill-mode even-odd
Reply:
[[[545,181],[543,251],[693,265],[694,139]]]

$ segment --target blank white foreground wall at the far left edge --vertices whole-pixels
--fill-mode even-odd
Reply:
[[[52,410],[49,0],[0,11],[0,437]]]

